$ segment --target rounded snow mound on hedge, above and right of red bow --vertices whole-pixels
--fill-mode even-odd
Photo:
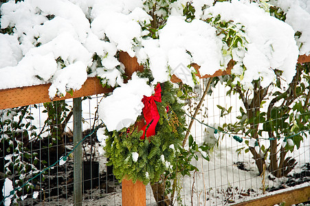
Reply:
[[[157,82],[168,80],[175,74],[185,84],[194,87],[192,73],[188,65],[195,62],[201,66],[202,76],[213,74],[221,69],[221,40],[216,36],[214,27],[199,19],[188,23],[184,16],[169,16],[166,25],[159,31],[159,40],[146,38],[142,48],[137,49],[138,62],[149,60],[149,67]],[[225,68],[222,68],[225,69]]]

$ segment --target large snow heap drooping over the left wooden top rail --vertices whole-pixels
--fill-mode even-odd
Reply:
[[[62,69],[57,58],[61,58],[67,67]],[[10,88],[12,84],[15,87],[43,84],[52,79],[49,96],[65,95],[70,89],[82,87],[90,62],[91,54],[87,49],[64,32],[49,43],[30,49],[16,67],[1,68],[0,88]]]

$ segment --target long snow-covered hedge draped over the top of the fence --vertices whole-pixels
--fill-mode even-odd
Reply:
[[[245,88],[251,88],[253,80],[267,87],[275,80],[274,69],[283,71],[290,82],[298,54],[310,51],[309,4],[306,0],[8,1],[1,5],[0,89],[51,82],[53,98],[80,89],[87,76],[98,76],[103,85],[120,86],[112,94],[118,95],[128,90],[120,51],[136,56],[154,78],[144,83],[139,95],[128,93],[128,102],[140,102],[143,95],[151,95],[142,91],[153,91],[157,82],[173,74],[193,87],[193,62],[205,75],[225,69],[233,59],[234,84]],[[129,84],[142,87],[134,82],[141,80]],[[118,105],[111,101],[119,100],[103,100],[100,116],[107,126],[114,125],[109,130],[120,130],[120,124],[109,124],[111,115],[105,112]],[[122,106],[124,111],[136,107]],[[140,111],[115,114],[113,119],[132,123]]]

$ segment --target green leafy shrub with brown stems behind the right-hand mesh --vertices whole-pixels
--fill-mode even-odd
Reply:
[[[275,71],[276,73],[278,71]],[[277,75],[276,82],[266,88],[260,86],[260,82],[254,82],[253,91],[245,90],[240,85],[230,84],[233,77],[226,77],[226,87],[230,88],[230,93],[237,93],[243,102],[240,108],[238,121],[231,124],[223,124],[223,130],[230,133],[239,133],[247,138],[256,139],[258,146],[263,152],[255,154],[253,148],[243,148],[245,152],[251,151],[256,157],[256,165],[261,172],[262,162],[258,159],[265,159],[269,154],[269,171],[275,176],[285,176],[294,168],[294,162],[285,159],[287,151],[293,152],[295,148],[300,148],[303,137],[306,137],[306,131],[310,130],[310,76],[309,63],[296,65],[296,75],[288,85]],[[284,89],[286,87],[286,89]],[[267,112],[263,107],[268,108]],[[228,115],[231,110],[223,106],[221,116]],[[267,137],[266,137],[267,136]],[[269,139],[270,147],[266,148],[259,139]],[[286,144],[278,146],[278,140]],[[238,140],[238,139],[236,139]],[[249,142],[245,142],[249,145]],[[241,152],[241,150],[237,151]],[[280,159],[276,155],[280,152]],[[293,166],[291,166],[291,165]],[[279,167],[279,168],[278,168]]]

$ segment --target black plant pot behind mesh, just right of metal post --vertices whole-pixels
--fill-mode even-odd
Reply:
[[[99,186],[99,162],[83,161],[83,191]]]

